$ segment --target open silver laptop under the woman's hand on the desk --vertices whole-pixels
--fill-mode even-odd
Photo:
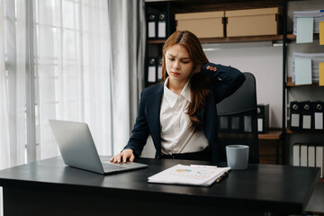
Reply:
[[[84,122],[49,120],[58,148],[67,166],[73,166],[99,174],[111,174],[148,165],[135,162],[121,164],[101,161],[89,127]]]

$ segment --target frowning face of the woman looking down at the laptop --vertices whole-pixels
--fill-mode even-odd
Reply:
[[[185,84],[193,72],[193,67],[193,61],[187,49],[179,44],[166,49],[166,73],[169,80]]]

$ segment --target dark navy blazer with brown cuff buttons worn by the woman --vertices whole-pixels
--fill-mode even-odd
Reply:
[[[215,69],[216,68],[216,69]],[[233,94],[245,81],[245,76],[234,67],[226,67],[207,63],[201,68],[202,76],[210,77],[211,94],[201,110],[202,130],[211,147],[212,161],[223,161],[220,139],[218,137],[218,120],[216,103]],[[140,94],[139,112],[135,121],[129,142],[124,149],[133,150],[135,157],[139,157],[148,135],[150,134],[156,148],[156,158],[161,156],[161,126],[160,108],[162,102],[163,83],[153,85]]]

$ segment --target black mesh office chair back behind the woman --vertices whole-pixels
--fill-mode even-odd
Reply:
[[[226,158],[227,145],[248,145],[248,162],[259,163],[256,78],[248,72],[243,74],[244,84],[217,104],[222,154]]]

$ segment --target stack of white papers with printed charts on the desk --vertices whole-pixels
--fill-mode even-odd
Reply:
[[[192,184],[209,186],[218,178],[228,175],[230,167],[216,166],[172,166],[162,172],[148,177],[149,183]]]

